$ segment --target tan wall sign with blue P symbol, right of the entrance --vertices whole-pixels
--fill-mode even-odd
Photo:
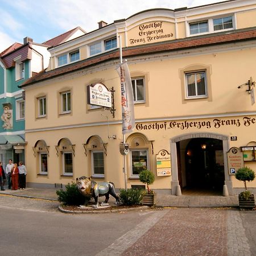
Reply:
[[[235,175],[237,170],[244,167],[243,153],[238,147],[232,147],[227,152],[229,174]]]

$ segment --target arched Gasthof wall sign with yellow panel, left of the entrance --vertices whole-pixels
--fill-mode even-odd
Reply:
[[[160,150],[156,155],[156,174],[158,176],[171,175],[171,155],[167,150]]]

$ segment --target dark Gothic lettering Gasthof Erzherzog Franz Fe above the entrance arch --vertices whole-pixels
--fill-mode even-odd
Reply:
[[[170,122],[152,122],[152,123],[137,123],[135,128],[138,131],[142,130],[170,130],[170,129],[180,129],[189,130],[190,128],[196,129],[211,129],[211,128],[221,128],[226,126],[236,126],[236,127],[247,127],[256,124],[256,118],[254,117],[242,117],[242,118],[214,118],[208,121],[196,121],[195,120],[184,120],[184,121],[170,121]]]

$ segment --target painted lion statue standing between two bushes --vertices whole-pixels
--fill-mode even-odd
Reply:
[[[98,207],[98,197],[105,196],[105,201],[101,203],[104,205],[109,201],[109,195],[112,195],[115,198],[115,204],[120,204],[119,197],[115,193],[114,184],[112,182],[99,182],[97,183],[94,180],[91,180],[90,177],[79,177],[76,178],[76,185],[80,193],[86,197],[86,199],[91,199],[92,197],[95,200],[94,208]]]

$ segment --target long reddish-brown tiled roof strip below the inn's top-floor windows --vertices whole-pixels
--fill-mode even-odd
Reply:
[[[122,49],[122,55],[123,57],[131,57],[146,54],[148,55],[159,52],[178,51],[182,49],[206,47],[213,46],[216,44],[234,43],[253,39],[256,39],[256,27],[250,29],[236,30],[232,32],[220,32],[217,34],[210,34],[207,36],[195,36],[193,38],[177,39],[167,42],[147,44],[145,46],[126,47]],[[35,84],[36,82],[52,79],[53,77],[61,76],[70,72],[75,72],[79,69],[84,69],[86,67],[102,63],[104,61],[109,61],[118,58],[119,49],[114,49],[113,51],[105,52],[101,55],[81,60],[75,64],[69,64],[60,68],[56,68],[52,71],[46,72],[46,69],[44,69],[42,72],[38,73],[38,75],[31,77],[19,87],[23,88],[27,85]]]

